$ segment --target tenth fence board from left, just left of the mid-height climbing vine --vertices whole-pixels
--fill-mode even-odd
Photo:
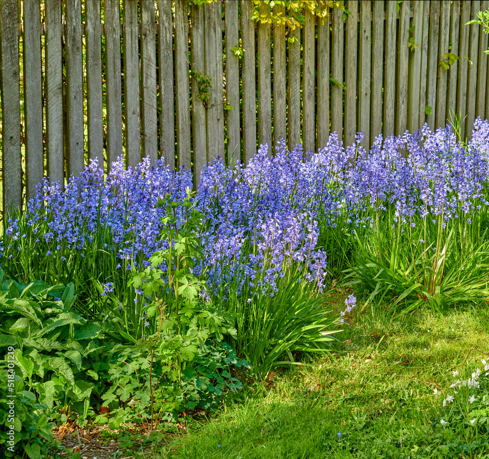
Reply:
[[[205,5],[209,7],[209,5]],[[188,81],[187,2],[175,3],[175,87],[177,97],[177,166],[191,167],[190,103]]]

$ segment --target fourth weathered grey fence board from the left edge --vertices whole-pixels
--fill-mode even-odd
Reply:
[[[76,175],[84,167],[81,0],[67,0],[66,17],[68,170]]]

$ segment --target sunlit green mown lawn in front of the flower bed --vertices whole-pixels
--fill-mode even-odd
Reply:
[[[487,304],[445,316],[418,311],[398,320],[386,316],[387,309],[359,309],[341,334],[348,344],[332,356],[248,386],[239,403],[189,423],[164,449],[155,445],[152,456],[489,457],[489,445],[471,452],[463,435],[433,425],[443,401],[433,390],[447,393],[452,371],[471,347],[489,353]],[[465,367],[474,370],[484,357],[472,352]]]

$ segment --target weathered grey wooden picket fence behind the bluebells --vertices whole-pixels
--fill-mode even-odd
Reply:
[[[444,125],[449,109],[463,136],[488,117],[488,36],[465,24],[489,1],[345,5],[346,20],[306,13],[289,30],[254,23],[249,0],[1,0],[3,205],[95,157],[163,156],[197,183],[212,158],[246,163],[281,138],[313,151],[362,130],[368,147]],[[445,53],[457,56],[448,70]]]

